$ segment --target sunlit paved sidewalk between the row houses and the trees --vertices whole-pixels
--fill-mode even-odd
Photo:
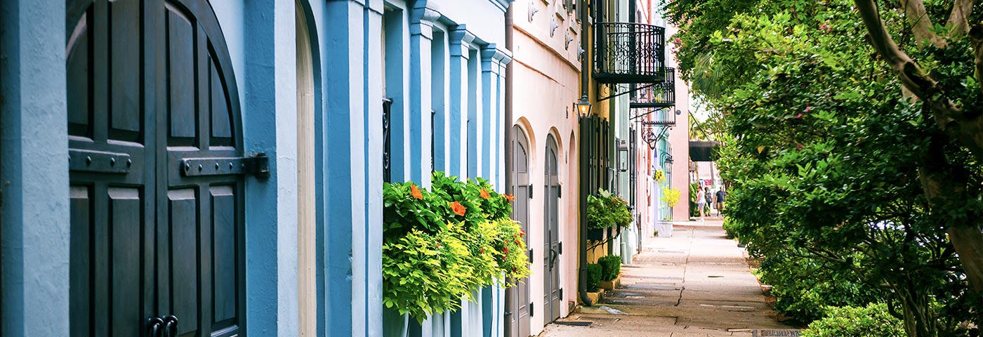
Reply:
[[[605,303],[578,308],[540,336],[752,336],[755,329],[791,328],[777,321],[744,249],[723,237],[721,221],[673,228],[671,238],[645,239]]]

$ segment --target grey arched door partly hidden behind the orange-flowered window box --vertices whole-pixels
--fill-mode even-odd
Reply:
[[[522,128],[512,127],[512,191],[515,202],[512,206],[512,219],[519,222],[522,230],[529,232],[529,196],[532,185],[529,183],[529,138]],[[523,237],[529,244],[529,236]],[[530,334],[529,285],[527,279],[516,280],[516,286],[505,289],[505,336],[528,337]]]

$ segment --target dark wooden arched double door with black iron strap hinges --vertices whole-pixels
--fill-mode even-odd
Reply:
[[[71,335],[244,335],[244,173],[262,160],[210,4],[66,9]]]

